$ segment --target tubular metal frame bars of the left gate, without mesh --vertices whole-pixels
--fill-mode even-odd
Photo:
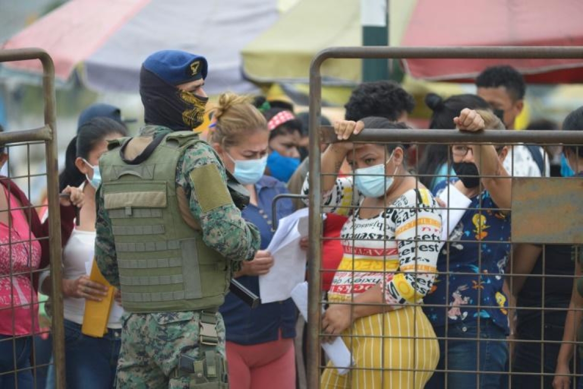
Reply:
[[[38,59],[43,64],[44,126],[20,131],[0,132],[0,145],[17,142],[44,142],[47,164],[47,197],[52,279],[52,345],[55,384],[65,387],[65,330],[61,293],[61,214],[57,161],[57,108],[55,105],[55,66],[48,53],[40,48],[0,50],[0,62]],[[33,366],[34,367],[34,366]]]

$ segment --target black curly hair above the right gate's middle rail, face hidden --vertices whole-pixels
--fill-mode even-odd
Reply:
[[[413,111],[415,99],[393,81],[363,82],[352,91],[344,107],[346,120],[377,116],[396,121],[404,112]]]

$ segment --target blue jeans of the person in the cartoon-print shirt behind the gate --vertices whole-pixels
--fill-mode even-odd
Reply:
[[[447,332],[445,327],[437,327],[434,330],[437,338],[440,338],[437,370],[462,370],[468,373],[436,371],[426,384],[426,389],[498,389],[501,380],[508,379],[507,375],[503,374],[508,359],[506,335],[504,330],[490,320],[480,320],[479,340],[476,322],[449,324]],[[445,341],[442,339],[444,337],[461,339]],[[483,374],[483,372],[498,373]]]

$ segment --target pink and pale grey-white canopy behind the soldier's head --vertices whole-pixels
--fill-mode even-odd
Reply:
[[[5,48],[41,47],[57,76],[80,69],[97,91],[138,92],[142,61],[157,50],[205,55],[209,94],[252,92],[240,50],[278,20],[276,0],[72,0],[10,38]],[[29,62],[26,64],[26,62]],[[16,63],[39,71],[36,61]]]

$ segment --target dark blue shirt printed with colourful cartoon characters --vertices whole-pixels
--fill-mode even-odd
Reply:
[[[447,185],[445,181],[437,185],[436,197]],[[487,191],[471,200],[449,236],[451,243],[441,249],[439,274],[423,299],[423,310],[434,327],[482,317],[508,333],[508,298],[502,286],[510,253],[510,215],[496,211],[498,206]]]

